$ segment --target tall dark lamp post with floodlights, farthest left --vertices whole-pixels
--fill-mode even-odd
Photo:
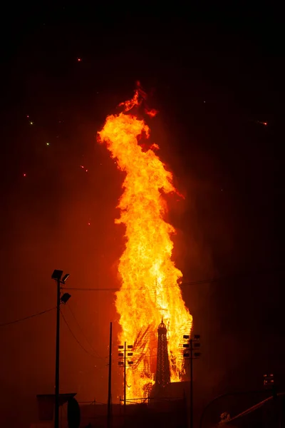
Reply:
[[[61,303],[66,304],[70,299],[71,295],[68,292],[61,296],[61,284],[65,284],[68,280],[69,273],[63,276],[63,270],[53,270],[51,279],[56,281],[57,292],[56,292],[56,386],[55,386],[55,404],[54,404],[54,428],[58,428],[58,417],[59,417],[59,327],[60,327],[60,310]]]

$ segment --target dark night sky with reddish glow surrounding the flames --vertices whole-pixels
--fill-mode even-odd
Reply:
[[[177,267],[185,282],[224,278],[182,287],[201,335],[199,399],[258,389],[268,370],[282,384],[281,24],[266,11],[206,19],[194,11],[155,16],[148,7],[108,15],[27,6],[6,16],[0,324],[56,305],[53,269],[71,274],[67,287],[118,287],[124,241],[114,219],[123,174],[95,138],[140,80],[160,112],[151,140],[185,195],[168,198]],[[106,402],[114,293],[70,292],[61,392]],[[36,394],[53,393],[55,332],[54,310],[0,327],[1,417],[11,427],[33,421]],[[123,391],[113,367],[115,402]]]

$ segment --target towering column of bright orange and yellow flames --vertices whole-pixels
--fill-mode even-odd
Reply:
[[[125,225],[125,250],[118,267],[121,287],[115,305],[120,315],[119,343],[133,345],[127,399],[146,397],[155,383],[157,326],[162,318],[167,325],[171,382],[182,379],[183,335],[190,334],[192,327],[178,285],[182,272],[172,260],[175,229],[165,221],[164,195],[176,192],[172,173],[155,153],[157,144],[142,149],[141,139],[150,136],[150,128],[134,113],[143,94],[138,88],[131,100],[120,104],[123,111],[108,116],[98,133],[98,141],[106,144],[125,172],[120,218],[115,220]]]

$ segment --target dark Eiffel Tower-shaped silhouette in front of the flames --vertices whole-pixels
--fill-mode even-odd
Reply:
[[[167,328],[163,320],[157,329],[156,387],[166,387],[170,383],[170,363],[167,352]]]

